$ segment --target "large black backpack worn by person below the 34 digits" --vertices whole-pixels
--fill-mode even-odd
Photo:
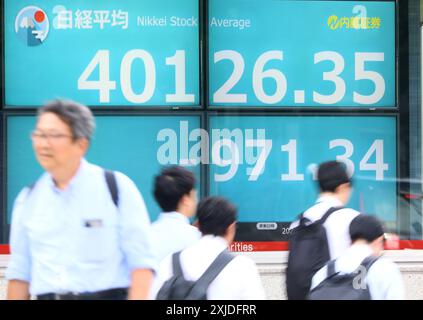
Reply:
[[[289,236],[288,267],[286,269],[286,291],[289,300],[305,300],[310,290],[313,275],[329,260],[329,245],[323,224],[335,211],[343,207],[332,207],[320,220],[313,223],[299,216],[299,225]]]

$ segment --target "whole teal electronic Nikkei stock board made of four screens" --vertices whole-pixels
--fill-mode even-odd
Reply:
[[[354,179],[349,205],[395,221],[395,2],[209,0],[207,19],[192,0],[4,5],[7,109],[64,97],[115,111],[194,110],[187,117],[177,111],[99,119],[108,127],[96,133],[89,159],[129,176],[142,172],[136,182],[153,218],[151,183],[160,166],[181,164],[200,178],[200,164],[207,164],[201,179],[207,178],[209,193],[239,208],[239,240],[286,240],[289,223],[315,200],[317,164],[339,159]],[[207,61],[200,48],[208,50]],[[201,63],[207,64],[206,87],[200,86]],[[328,108],[333,112],[319,113]],[[203,114],[206,109],[217,112]],[[375,113],[360,114],[369,110]],[[16,116],[8,126],[9,203],[18,185],[39,173],[12,141],[32,125]],[[108,130],[125,142],[115,139],[118,152],[103,150]],[[143,142],[129,146],[136,140]],[[132,161],[143,152],[148,156]]]

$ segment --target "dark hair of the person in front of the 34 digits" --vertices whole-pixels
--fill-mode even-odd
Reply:
[[[345,164],[339,161],[327,161],[317,169],[317,181],[321,192],[335,192],[344,183],[350,183]]]

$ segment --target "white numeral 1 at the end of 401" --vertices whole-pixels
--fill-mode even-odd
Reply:
[[[166,95],[166,102],[194,102],[195,96],[186,93],[185,51],[177,50],[173,57],[166,58],[166,65],[175,66],[175,93]]]

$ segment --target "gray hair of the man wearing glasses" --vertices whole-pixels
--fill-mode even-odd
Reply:
[[[53,100],[38,110],[38,117],[47,112],[54,113],[69,126],[74,140],[91,140],[95,121],[88,107],[71,100]]]

